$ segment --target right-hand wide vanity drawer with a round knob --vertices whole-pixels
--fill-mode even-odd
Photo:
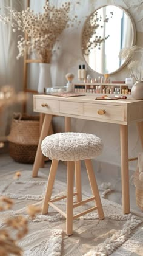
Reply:
[[[103,120],[124,121],[124,106],[84,103],[84,116]]]

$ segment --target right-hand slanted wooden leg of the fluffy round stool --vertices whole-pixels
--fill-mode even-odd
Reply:
[[[88,174],[88,178],[90,181],[90,186],[91,186],[91,190],[93,193],[93,196],[95,196],[95,202],[96,202],[96,206],[98,207],[98,216],[100,220],[104,219],[104,212],[102,209],[102,204],[101,204],[101,198],[99,195],[99,190],[98,190],[98,185],[96,182],[96,178],[95,178],[95,173],[93,171],[93,167],[92,167],[92,162],[91,159],[86,159],[85,160],[85,165],[87,168],[87,174]]]

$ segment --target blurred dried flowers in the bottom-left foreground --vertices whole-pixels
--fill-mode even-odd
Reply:
[[[21,171],[17,171],[13,179],[19,179]],[[14,202],[12,199],[1,196],[0,197],[0,211],[12,209]],[[37,213],[41,212],[39,206],[28,206],[27,213],[30,218],[35,218]],[[4,226],[0,230],[0,255],[18,255],[21,256],[23,249],[18,246],[21,238],[28,233],[28,219],[24,216],[13,216],[5,220]]]

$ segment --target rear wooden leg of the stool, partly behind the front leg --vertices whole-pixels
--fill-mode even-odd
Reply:
[[[76,192],[77,195],[77,202],[82,201],[81,195],[81,161],[75,161],[75,182],[76,182]]]

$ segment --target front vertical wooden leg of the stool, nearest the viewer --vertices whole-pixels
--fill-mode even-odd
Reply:
[[[74,162],[67,162],[67,220],[66,234],[73,234],[73,184],[74,184]]]

